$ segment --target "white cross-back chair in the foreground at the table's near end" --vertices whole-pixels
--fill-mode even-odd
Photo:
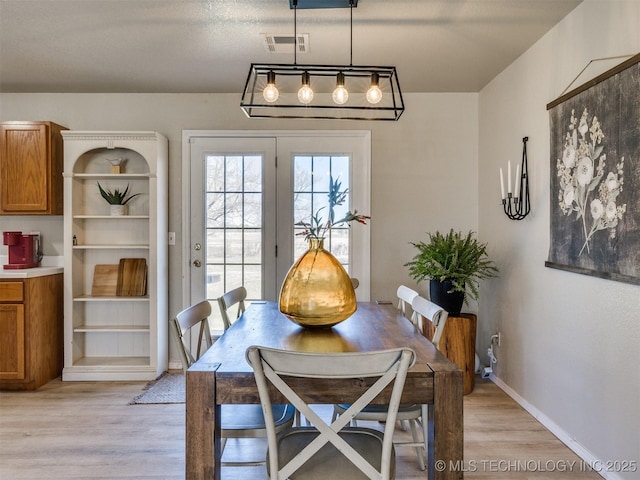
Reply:
[[[267,420],[269,479],[354,480],[395,478],[394,428],[350,427],[351,419],[393,383],[385,420],[395,425],[408,368],[415,353],[408,348],[361,353],[304,353],[259,346],[247,349]],[[344,413],[328,425],[294,391],[287,377],[338,379],[377,377]],[[272,427],[269,383],[313,425],[276,435]]]

